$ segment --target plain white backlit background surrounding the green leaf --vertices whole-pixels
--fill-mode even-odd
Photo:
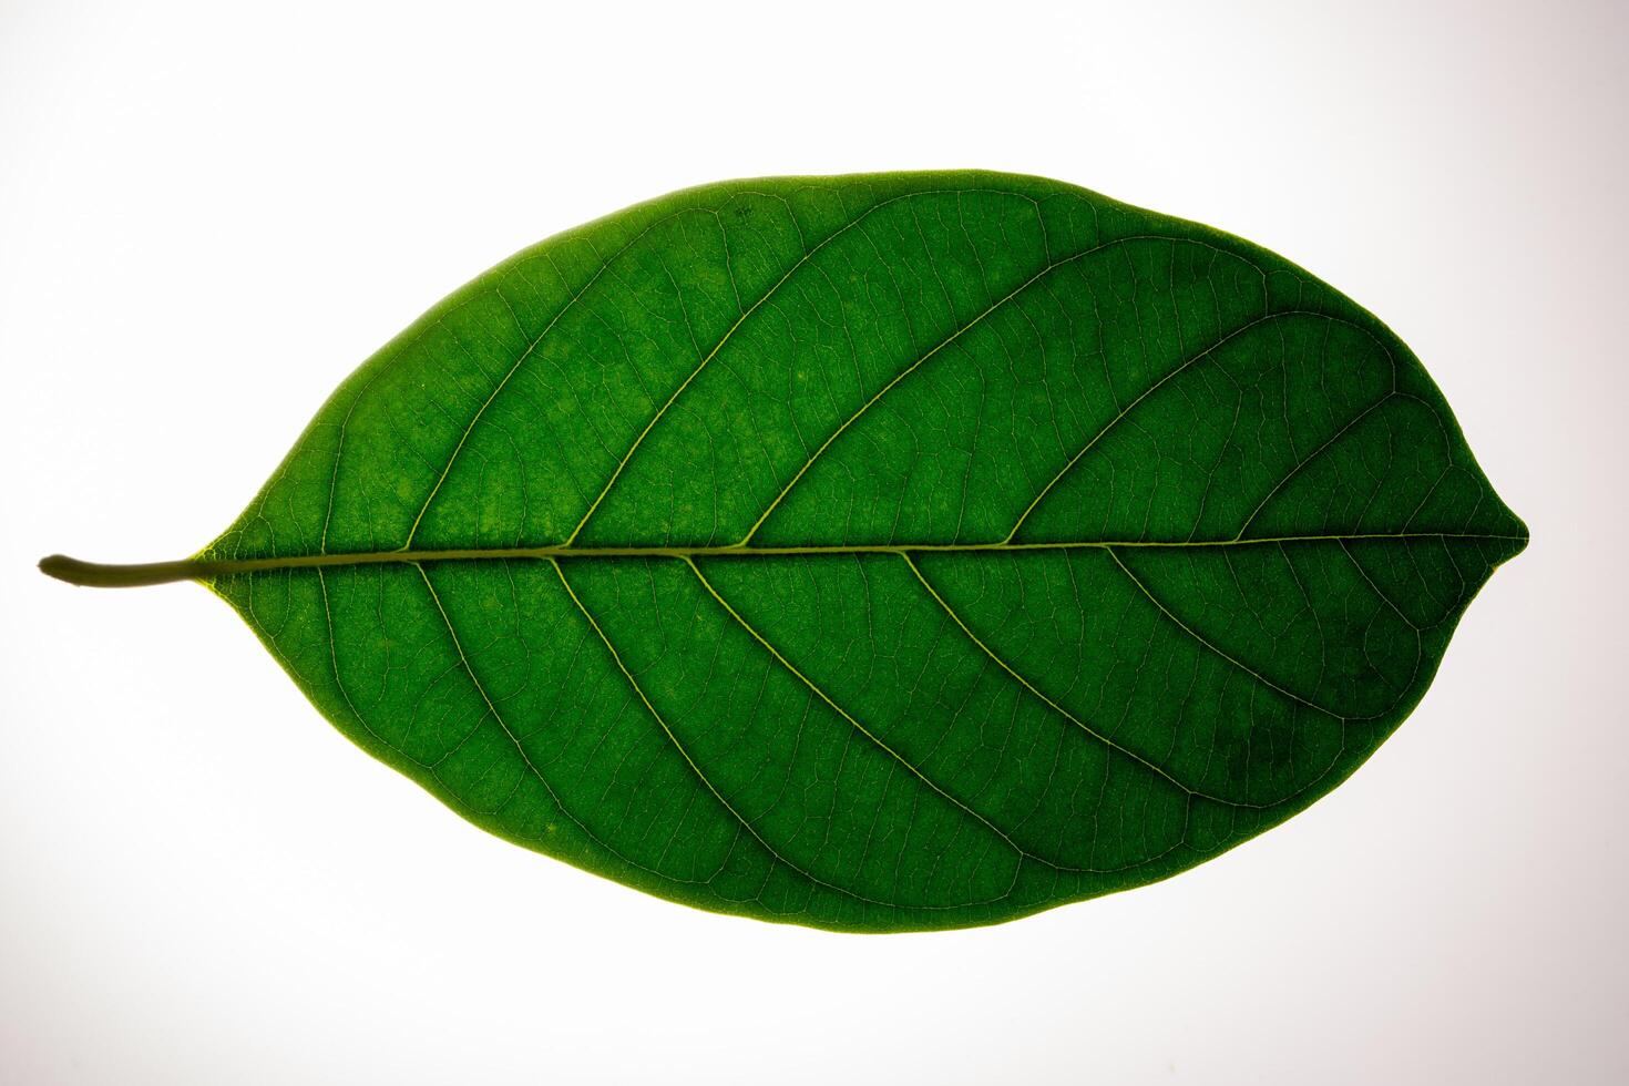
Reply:
[[[1624,1081],[1626,41],[1556,0],[0,3],[0,1079]],[[1328,278],[1533,529],[1357,777],[1170,882],[951,935],[692,912],[466,825],[205,591],[33,568],[191,554],[538,238],[943,166]]]

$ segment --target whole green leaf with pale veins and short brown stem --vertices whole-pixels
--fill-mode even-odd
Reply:
[[[1373,316],[989,173],[761,179],[492,269],[197,558],[350,739],[702,909],[953,928],[1284,821],[1526,529]]]

